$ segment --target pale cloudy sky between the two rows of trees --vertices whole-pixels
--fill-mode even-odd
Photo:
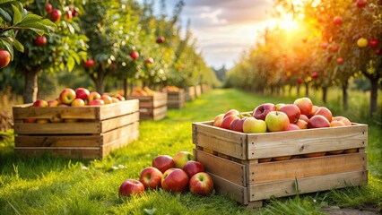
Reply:
[[[166,0],[169,15],[177,2]],[[190,20],[206,64],[230,68],[244,50],[256,44],[259,32],[272,18],[272,6],[272,0],[185,0],[180,19],[185,28]]]

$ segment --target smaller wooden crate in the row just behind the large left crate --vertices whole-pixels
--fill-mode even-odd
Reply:
[[[167,116],[166,92],[158,92],[153,96],[130,96],[128,99],[139,99],[141,119],[160,120]]]

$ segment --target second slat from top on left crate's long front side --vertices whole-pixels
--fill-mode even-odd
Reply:
[[[74,122],[74,123],[48,123],[28,124],[16,123],[14,133],[18,134],[75,134],[75,133],[100,133],[100,123]]]

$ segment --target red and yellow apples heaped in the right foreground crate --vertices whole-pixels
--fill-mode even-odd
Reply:
[[[313,105],[309,98],[296,99],[293,104],[265,103],[247,113],[230,109],[213,120],[213,126],[241,133],[272,133],[345,125],[352,123],[344,116],[333,116],[327,107]]]

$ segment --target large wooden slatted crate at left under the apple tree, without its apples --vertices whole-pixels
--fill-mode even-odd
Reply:
[[[139,136],[139,101],[104,106],[13,107],[15,153],[49,153],[74,159],[100,159]],[[25,123],[25,119],[57,119],[59,123]],[[70,120],[72,122],[65,122]]]

